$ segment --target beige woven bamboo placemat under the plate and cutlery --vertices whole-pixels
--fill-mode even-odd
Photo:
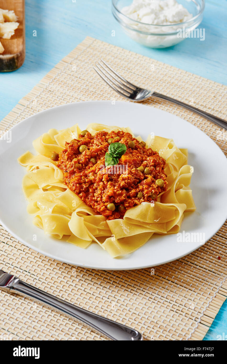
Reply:
[[[87,37],[59,62],[0,123],[0,130],[47,108],[84,100],[122,100],[93,71],[104,58],[132,82],[226,117],[227,87],[154,59]],[[220,128],[162,100],[166,110],[206,132],[226,153]],[[116,122],[117,124],[117,122]],[[222,228],[200,249],[168,264],[133,271],[73,267],[27,248],[3,227],[1,267],[46,292],[127,324],[146,340],[202,340],[227,296],[226,233]],[[63,314],[0,291],[0,340],[105,340]]]

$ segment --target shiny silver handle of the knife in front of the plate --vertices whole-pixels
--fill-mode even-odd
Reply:
[[[143,340],[142,335],[138,331],[63,301],[60,298],[52,296],[52,294],[21,281],[19,278],[15,277],[12,280],[9,292],[22,294],[23,296],[32,297],[37,301],[43,302],[55,310],[64,312],[67,316],[76,318],[78,322],[83,323],[83,326],[88,328],[92,327],[96,332],[101,332],[112,340]]]

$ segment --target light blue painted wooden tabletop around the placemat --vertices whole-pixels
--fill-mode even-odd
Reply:
[[[111,14],[111,0],[25,0],[25,6],[26,59],[19,70],[0,73],[0,120],[86,36],[227,84],[226,0],[206,0],[200,25],[205,28],[204,41],[186,39],[160,50],[140,46],[124,35]],[[204,340],[217,340],[218,335],[227,334],[226,328],[225,302]]]

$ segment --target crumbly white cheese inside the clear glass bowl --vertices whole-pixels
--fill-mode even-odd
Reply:
[[[133,0],[131,5],[121,10],[121,14],[127,16],[122,18],[127,35],[153,48],[179,43],[182,40],[177,37],[179,23],[188,22],[191,26],[190,19],[193,17],[176,0]]]

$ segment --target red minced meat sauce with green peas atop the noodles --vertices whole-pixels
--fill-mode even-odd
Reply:
[[[111,143],[124,144],[126,151],[116,165],[105,167]],[[79,139],[65,143],[57,162],[69,189],[107,219],[123,218],[131,207],[156,201],[167,190],[165,164],[156,151],[128,132],[99,131],[91,135],[87,130]]]

